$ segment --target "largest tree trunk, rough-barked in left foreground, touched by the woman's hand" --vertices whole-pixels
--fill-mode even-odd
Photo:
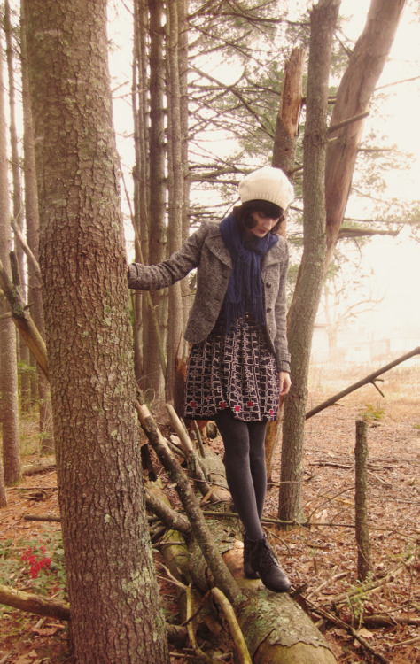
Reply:
[[[167,662],[144,513],[106,2],[25,0],[24,11],[75,655]]]

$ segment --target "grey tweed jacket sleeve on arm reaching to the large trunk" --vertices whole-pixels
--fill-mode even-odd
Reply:
[[[206,234],[207,228],[204,222],[169,259],[158,265],[132,263],[128,266],[128,288],[158,290],[179,282],[194,267],[198,267]]]

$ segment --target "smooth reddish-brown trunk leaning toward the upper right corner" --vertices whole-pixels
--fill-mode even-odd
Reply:
[[[371,0],[362,35],[350,56],[346,73],[338,87],[331,115],[331,127],[343,120],[369,112],[370,100],[391,46],[406,0]],[[330,263],[338,232],[344,220],[352,184],[354,164],[362,139],[364,118],[331,133],[325,170],[327,210],[327,260]]]

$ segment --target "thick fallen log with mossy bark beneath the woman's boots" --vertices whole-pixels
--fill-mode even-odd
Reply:
[[[286,594],[276,594],[264,588],[259,580],[245,579],[243,573],[243,544],[239,539],[236,519],[208,521],[222,558],[241,589],[241,597],[233,608],[245,637],[254,664],[334,664],[336,662],[323,635],[300,606]],[[184,538],[176,531],[167,531],[161,552],[171,574],[183,583],[198,587],[194,606],[214,585],[198,544],[193,537]],[[185,619],[183,591],[180,592],[180,613]],[[214,635],[218,623],[209,610],[198,614],[195,627],[205,622]],[[217,640],[217,637],[215,637]]]

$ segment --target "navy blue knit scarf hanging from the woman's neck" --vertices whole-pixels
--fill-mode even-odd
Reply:
[[[234,214],[222,220],[220,229],[233,264],[225,303],[226,329],[228,333],[235,329],[245,311],[253,313],[258,325],[264,325],[261,259],[278,242],[278,237],[268,233],[245,241]]]

